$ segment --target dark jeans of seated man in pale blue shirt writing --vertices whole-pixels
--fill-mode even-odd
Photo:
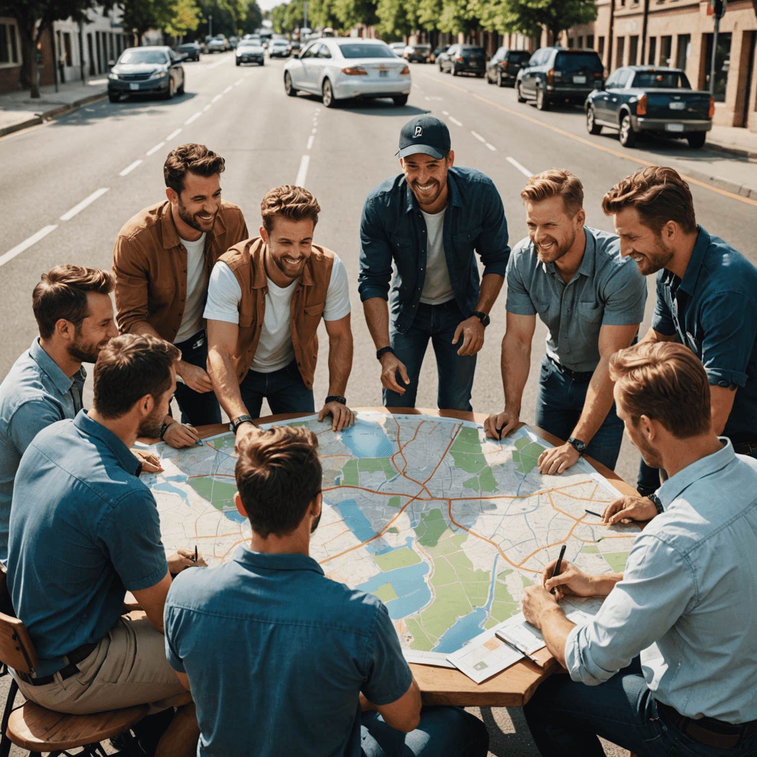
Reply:
[[[597,736],[639,757],[757,755],[757,734],[735,749],[715,749],[679,731],[658,712],[638,658],[600,686],[555,674],[540,685],[523,714],[542,757],[604,757]]]

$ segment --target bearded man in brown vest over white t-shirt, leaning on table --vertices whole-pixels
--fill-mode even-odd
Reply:
[[[344,393],[352,369],[350,290],[338,255],[313,245],[320,206],[301,187],[266,193],[260,236],[224,253],[210,275],[208,372],[235,434],[254,432],[263,398],[273,413],[314,413],[321,318],[329,335],[329,396],[319,420],[355,422]]]

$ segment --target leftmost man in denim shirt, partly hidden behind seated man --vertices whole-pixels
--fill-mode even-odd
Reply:
[[[108,296],[110,273],[81,266],[56,266],[34,288],[32,305],[39,338],[13,364],[0,384],[0,562],[8,559],[8,519],[21,456],[48,425],[82,409],[87,377],[118,334]]]

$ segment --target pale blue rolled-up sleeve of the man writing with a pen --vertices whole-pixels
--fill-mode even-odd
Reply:
[[[690,564],[652,534],[640,534],[628,555],[623,581],[588,625],[565,641],[573,681],[597,686],[625,668],[681,617],[695,593]]]

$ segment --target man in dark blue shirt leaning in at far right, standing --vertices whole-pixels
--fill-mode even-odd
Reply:
[[[602,207],[615,217],[621,254],[644,276],[657,273],[657,306],[643,341],[680,341],[699,357],[715,434],[757,457],[757,268],[697,226],[689,186],[672,168],[638,170],[607,192]],[[643,460],[638,484],[645,496],[659,487],[658,472]]]

